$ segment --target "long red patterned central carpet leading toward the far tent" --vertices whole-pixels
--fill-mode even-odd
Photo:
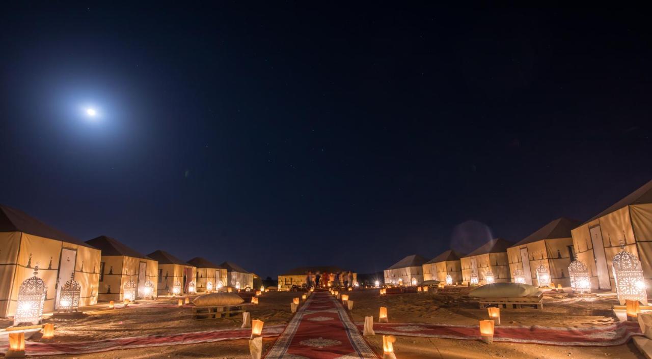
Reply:
[[[329,293],[315,292],[297,310],[265,358],[377,359],[378,356],[344,306]]]

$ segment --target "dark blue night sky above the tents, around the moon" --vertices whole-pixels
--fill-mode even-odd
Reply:
[[[83,240],[369,273],[652,179],[640,9],[20,3],[0,203]]]

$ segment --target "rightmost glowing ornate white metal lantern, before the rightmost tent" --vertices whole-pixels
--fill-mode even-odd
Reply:
[[[625,304],[627,299],[637,300],[645,305],[647,293],[641,262],[634,254],[625,251],[625,245],[621,245],[621,248],[622,250],[612,259],[618,300],[621,305]]]

